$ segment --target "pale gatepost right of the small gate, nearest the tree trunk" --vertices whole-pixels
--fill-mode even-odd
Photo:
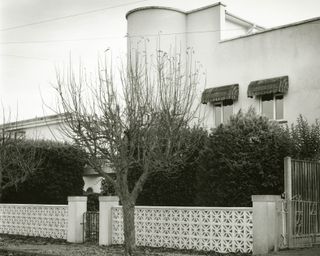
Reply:
[[[119,205],[117,196],[99,197],[99,245],[112,244],[112,207]]]

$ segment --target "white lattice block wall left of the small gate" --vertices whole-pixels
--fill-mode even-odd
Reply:
[[[67,239],[67,205],[0,204],[0,233]]]

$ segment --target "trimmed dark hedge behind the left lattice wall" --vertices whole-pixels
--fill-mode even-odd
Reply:
[[[66,204],[68,196],[83,193],[85,153],[79,148],[51,141],[24,141],[19,151],[35,150],[41,162],[17,187],[3,191],[5,203]]]

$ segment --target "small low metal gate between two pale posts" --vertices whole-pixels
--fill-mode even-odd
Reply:
[[[84,242],[99,241],[99,212],[85,212],[83,214]]]

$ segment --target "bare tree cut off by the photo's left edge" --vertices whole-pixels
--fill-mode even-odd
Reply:
[[[24,182],[41,164],[41,156],[36,149],[23,149],[25,139],[16,129],[17,122],[10,122],[10,111],[2,106],[2,125],[0,125],[0,202],[3,191]],[[28,141],[30,144],[32,140]]]

